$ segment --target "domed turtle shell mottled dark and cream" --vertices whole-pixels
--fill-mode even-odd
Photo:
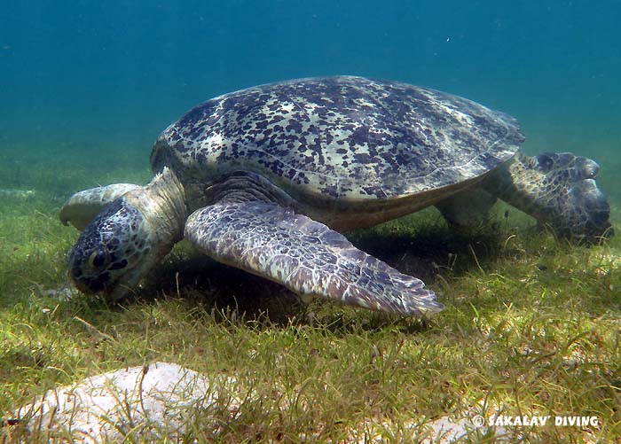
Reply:
[[[252,171],[294,196],[358,201],[454,190],[522,142],[513,117],[468,99],[336,76],[212,98],[161,134],[151,160],[185,183]]]

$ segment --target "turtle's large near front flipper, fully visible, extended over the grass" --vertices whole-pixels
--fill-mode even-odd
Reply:
[[[399,315],[440,311],[434,292],[358,250],[326,225],[266,202],[195,211],[185,238],[216,261],[266,277],[301,296],[321,296]]]

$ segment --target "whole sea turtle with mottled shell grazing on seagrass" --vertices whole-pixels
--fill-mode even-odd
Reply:
[[[145,186],[76,193],[69,268],[83,292],[122,297],[186,238],[226,264],[402,315],[439,311],[421,280],[350,244],[363,228],[437,206],[458,225],[497,198],[559,235],[610,232],[598,165],[520,152],[517,121],[465,98],[354,76],[271,83],[212,98],[165,129]]]

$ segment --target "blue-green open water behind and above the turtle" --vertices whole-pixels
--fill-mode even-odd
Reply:
[[[3,2],[0,155],[147,167],[159,132],[208,97],[358,74],[511,113],[527,152],[593,157],[614,197],[619,19],[613,0]]]

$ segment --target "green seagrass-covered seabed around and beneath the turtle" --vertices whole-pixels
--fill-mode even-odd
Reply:
[[[601,163],[602,187],[616,189],[620,166]],[[349,233],[438,293],[445,309],[430,319],[323,300],[305,306],[185,243],[110,306],[73,291],[66,263],[78,233],[60,224],[59,207],[74,191],[145,183],[150,175],[142,164],[101,165],[72,158],[19,174],[11,160],[0,167],[0,188],[12,191],[0,191],[2,419],[51,388],[173,362],[235,381],[228,397],[187,417],[185,441],[447,442],[438,438],[438,421],[498,415],[597,422],[468,426],[462,440],[611,442],[621,435],[621,236],[568,245],[506,206],[465,233],[448,230],[435,210]],[[621,233],[621,195],[609,199]],[[23,421],[1,430],[9,440],[51,436]]]

